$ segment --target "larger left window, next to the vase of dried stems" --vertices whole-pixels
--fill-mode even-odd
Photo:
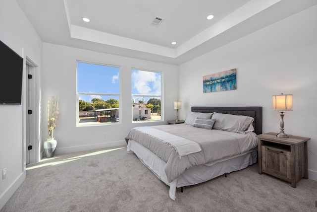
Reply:
[[[77,126],[119,122],[120,68],[77,62]]]

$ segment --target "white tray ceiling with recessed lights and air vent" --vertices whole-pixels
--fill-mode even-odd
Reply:
[[[317,0],[16,0],[43,42],[180,65]],[[206,16],[214,18],[207,20]],[[159,26],[151,25],[156,16]],[[89,17],[86,23],[82,17]],[[171,42],[176,41],[176,45]]]

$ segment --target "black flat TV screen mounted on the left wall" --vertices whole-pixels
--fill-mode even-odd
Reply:
[[[23,58],[0,41],[0,104],[21,104]]]

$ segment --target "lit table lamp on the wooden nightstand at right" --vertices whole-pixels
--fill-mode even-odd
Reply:
[[[293,95],[292,94],[281,94],[281,95],[275,95],[273,97],[273,110],[277,110],[280,112],[281,116],[281,129],[279,134],[277,134],[277,137],[280,138],[288,138],[288,135],[284,133],[284,113],[288,110],[293,110]]]

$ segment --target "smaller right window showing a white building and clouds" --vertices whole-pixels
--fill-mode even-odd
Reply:
[[[132,69],[132,121],[161,120],[161,72]]]

